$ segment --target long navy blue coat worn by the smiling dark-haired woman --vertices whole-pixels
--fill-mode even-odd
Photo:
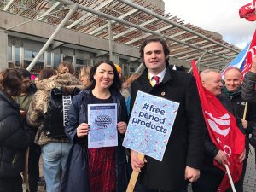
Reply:
[[[88,179],[87,137],[77,137],[77,127],[88,122],[87,105],[91,103],[91,90],[84,90],[73,97],[69,109],[69,123],[65,129],[66,135],[73,143],[68,160],[67,172],[64,173],[61,183],[61,192],[88,192],[90,191]],[[112,92],[113,103],[117,103],[117,119],[127,123],[128,115],[125,107],[125,98],[119,92]],[[116,192],[125,191],[127,186],[127,162],[125,149],[122,147],[122,135],[119,134],[119,145],[115,147]],[[75,189],[75,190],[74,190]]]

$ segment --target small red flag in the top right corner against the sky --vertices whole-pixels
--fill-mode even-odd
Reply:
[[[249,21],[256,20],[255,2],[256,0],[253,0],[252,3],[247,3],[246,5],[242,6],[241,9],[239,9],[240,18],[245,18]]]

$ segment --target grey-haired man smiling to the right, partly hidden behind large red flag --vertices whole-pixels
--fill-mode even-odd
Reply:
[[[201,72],[201,83],[206,90],[210,91],[214,96],[217,96],[218,100],[224,105],[230,113],[233,113],[231,102],[221,95],[223,84],[221,82],[221,74],[217,70],[207,69]],[[241,154],[240,161],[244,160],[245,154]],[[194,192],[216,192],[218,186],[224,177],[224,171],[218,169],[213,165],[213,160],[218,161],[222,166],[228,165],[227,156],[223,150],[218,149],[214,143],[212,143],[208,132],[206,133],[205,140],[205,158],[204,166],[201,170],[200,179],[192,184]]]

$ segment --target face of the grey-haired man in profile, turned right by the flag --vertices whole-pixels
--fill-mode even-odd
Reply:
[[[214,96],[221,94],[221,74],[217,72],[209,72],[204,74],[202,85],[209,90]]]

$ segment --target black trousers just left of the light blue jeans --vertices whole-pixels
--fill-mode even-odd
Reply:
[[[28,183],[30,192],[38,191],[40,155],[41,147],[37,144],[32,144],[29,148],[28,156]]]

